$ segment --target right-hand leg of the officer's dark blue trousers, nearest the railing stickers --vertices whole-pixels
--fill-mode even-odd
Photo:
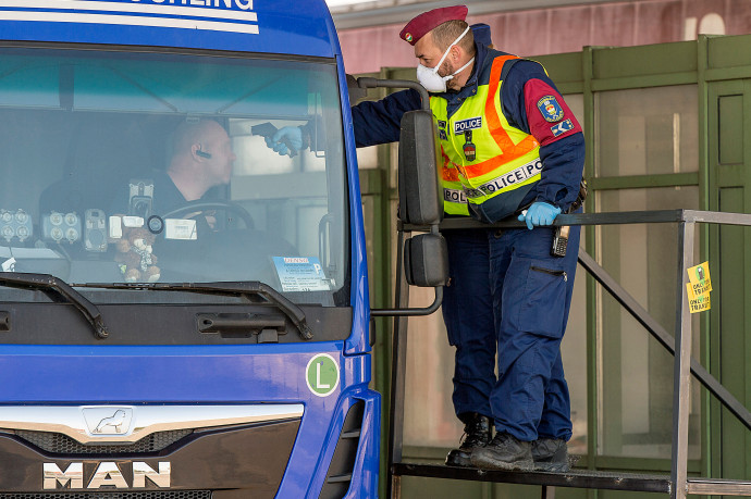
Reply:
[[[490,396],[497,432],[519,440],[571,437],[570,400],[561,359],[574,291],[579,226],[566,257],[551,255],[554,228],[489,233],[498,378]]]

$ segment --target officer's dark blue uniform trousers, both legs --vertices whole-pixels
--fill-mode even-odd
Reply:
[[[520,440],[571,436],[561,359],[574,290],[579,227],[565,258],[554,229],[446,230],[450,285],[443,319],[456,347],[454,410],[495,421]],[[497,345],[497,372],[495,352]]]

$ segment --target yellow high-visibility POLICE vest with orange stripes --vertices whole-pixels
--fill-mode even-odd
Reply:
[[[540,180],[540,144],[508,124],[501,104],[503,66],[515,55],[493,60],[487,83],[448,117],[446,100],[431,96],[443,164],[443,207],[450,214],[468,214],[467,202],[481,204],[496,196]],[[461,196],[459,192],[463,192]]]

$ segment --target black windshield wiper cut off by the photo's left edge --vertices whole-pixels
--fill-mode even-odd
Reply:
[[[0,272],[0,285],[14,288],[40,289],[46,292],[54,291],[56,295],[78,309],[86,317],[86,321],[91,324],[94,335],[97,338],[103,339],[110,335],[97,305],[88,301],[67,283],[53,275]]]

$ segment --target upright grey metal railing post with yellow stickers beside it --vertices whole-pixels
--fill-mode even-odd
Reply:
[[[678,292],[676,294],[675,363],[673,371],[672,499],[686,499],[688,486],[688,431],[691,395],[691,312],[688,305],[686,269],[693,262],[693,222],[678,225]]]

